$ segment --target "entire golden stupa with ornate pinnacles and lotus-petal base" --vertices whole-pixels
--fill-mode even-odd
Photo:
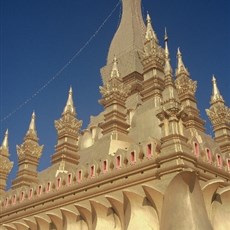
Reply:
[[[85,130],[70,88],[52,165],[37,171],[43,146],[32,114],[6,181],[8,131],[0,148],[1,230],[230,229],[230,109],[213,77],[206,134],[192,80],[178,49],[160,46],[141,0],[122,0],[100,87],[104,110]],[[125,37],[125,39],[124,39]]]

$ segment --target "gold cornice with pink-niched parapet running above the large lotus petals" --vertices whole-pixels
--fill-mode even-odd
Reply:
[[[144,147],[144,146],[143,146]],[[146,147],[146,146],[145,146]],[[153,147],[153,146],[152,146]],[[145,149],[145,148],[140,148]],[[155,153],[155,149],[153,150]],[[124,152],[122,155],[121,168],[116,169],[115,167],[109,167],[108,171],[103,172],[103,166],[101,164],[96,165],[94,177],[90,178],[90,174],[88,173],[88,168],[91,167],[87,165],[84,167],[81,165],[77,169],[81,171],[82,178],[80,181],[70,174],[63,174],[60,177],[55,178],[54,181],[46,182],[50,186],[50,190],[47,190],[47,184],[43,183],[42,185],[33,185],[31,188],[24,188],[23,190],[13,191],[11,193],[6,193],[4,196],[4,200],[2,199],[2,218],[4,221],[10,219],[12,220],[11,213],[14,213],[13,218],[20,218],[21,212],[24,211],[24,216],[31,216],[37,214],[37,210],[40,210],[40,205],[43,204],[42,212],[51,210],[52,207],[61,208],[65,205],[69,205],[71,203],[76,203],[81,197],[83,199],[88,199],[89,196],[96,196],[97,194],[109,194],[115,189],[127,188],[133,184],[142,184],[147,181],[152,181],[153,179],[159,179],[164,175],[169,175],[170,173],[176,173],[178,171],[196,171],[200,177],[204,181],[210,180],[211,175],[218,175],[218,177],[224,178],[226,180],[223,183],[223,186],[228,186],[227,178],[229,177],[229,171],[227,169],[219,169],[216,165],[211,165],[207,162],[204,162],[202,157],[196,158],[192,154],[186,153],[174,153],[170,152],[169,155],[159,154],[157,151],[157,156],[153,155],[152,157],[147,157],[147,152],[143,153],[142,151],[135,152],[137,157],[135,164],[131,164],[130,161],[130,151]],[[108,165],[115,164],[116,157],[109,157]],[[170,162],[178,162],[177,165],[173,163],[170,165]],[[124,163],[126,162],[126,163]],[[110,163],[110,164],[109,164]],[[161,167],[159,167],[161,166]],[[207,170],[207,171],[206,171]],[[116,173],[115,173],[116,171]],[[103,173],[102,173],[103,172]],[[143,173],[145,172],[145,173]],[[70,177],[71,175],[71,177]],[[134,176],[137,175],[137,176]],[[71,178],[71,179],[69,179]],[[89,180],[90,178],[90,180]],[[60,186],[58,186],[57,181],[60,181]],[[112,181],[117,181],[116,188],[113,186]],[[125,180],[125,183],[124,183]],[[69,182],[68,182],[69,181]],[[111,183],[109,183],[111,182]],[[104,186],[107,184],[106,190]],[[38,188],[41,186],[41,193],[37,193]],[[97,188],[97,189],[92,189]],[[70,193],[71,190],[71,193]],[[23,191],[25,198],[19,197],[19,191]],[[32,191],[31,195],[30,192]],[[83,195],[84,194],[84,195]],[[15,203],[12,204],[12,199],[16,196]],[[74,196],[73,196],[74,195]],[[5,204],[5,200],[9,200],[8,205]],[[20,200],[21,199],[21,200]],[[51,202],[46,202],[50,201]],[[31,200],[33,202],[31,202]],[[4,202],[4,203],[3,203]],[[33,209],[31,207],[33,206]],[[15,213],[15,210],[17,212]],[[32,210],[32,212],[31,212]]]

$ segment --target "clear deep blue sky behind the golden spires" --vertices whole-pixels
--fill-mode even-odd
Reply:
[[[19,108],[84,46],[119,0],[0,1],[0,142],[8,128],[10,158],[15,163],[10,184],[17,171],[16,145],[23,141],[33,110],[40,144],[45,145],[39,170],[50,165],[56,144],[54,120],[61,116],[70,85],[83,128],[87,127],[90,115],[102,110],[98,104],[98,87],[102,84],[99,70],[106,63],[121,6],[66,69]],[[167,27],[174,68],[180,47],[192,79],[198,81],[197,100],[202,118],[208,121],[205,108],[209,107],[212,74],[230,105],[230,1],[142,0],[142,9],[144,17],[149,12],[162,45]],[[210,133],[209,122],[207,130]]]

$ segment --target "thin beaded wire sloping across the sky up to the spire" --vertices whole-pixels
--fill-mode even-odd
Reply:
[[[9,119],[16,112],[18,112],[20,109],[22,109],[26,104],[31,102],[35,97],[37,97],[45,88],[47,88],[55,79],[57,79],[61,75],[61,73],[83,52],[83,50],[92,42],[95,36],[102,30],[106,22],[114,14],[114,12],[116,11],[116,9],[118,8],[120,4],[121,4],[121,0],[117,2],[115,7],[112,9],[109,15],[104,19],[104,21],[97,28],[94,34],[90,36],[90,38],[84,43],[84,45],[78,51],[75,52],[75,54],[69,59],[69,61],[66,62],[66,64],[62,68],[60,68],[55,75],[53,75],[44,85],[42,85],[38,90],[36,90],[29,98],[27,98],[23,103],[21,103],[16,109],[11,111],[5,117],[1,118],[1,124],[7,119]],[[2,62],[2,57],[1,57],[1,62]],[[2,73],[1,73],[1,89],[2,89]],[[1,101],[1,114],[2,114],[2,101]]]

